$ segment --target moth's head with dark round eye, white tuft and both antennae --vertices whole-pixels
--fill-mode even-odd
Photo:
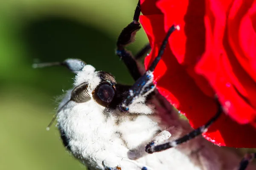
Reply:
[[[96,71],[92,65],[87,65],[80,59],[66,59],[64,62],[34,64],[34,68],[46,67],[52,65],[64,65],[73,73],[76,73],[74,79],[74,88],[67,91],[67,96],[59,105],[58,111],[52,121],[47,126],[47,130],[55,121],[58,114],[62,111],[71,111],[81,107],[79,111],[90,112],[108,107],[116,95],[116,80],[105,71]],[[71,106],[72,105],[72,106]],[[98,111],[99,112],[99,111]]]

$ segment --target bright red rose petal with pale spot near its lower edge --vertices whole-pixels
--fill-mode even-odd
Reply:
[[[253,99],[248,96],[255,96],[256,84],[241,67],[229,44],[224,16],[231,6],[221,8],[216,2],[207,4],[207,50],[198,63],[198,73],[207,77],[229,116],[239,123],[250,123],[256,113]],[[235,33],[232,36],[236,37]]]

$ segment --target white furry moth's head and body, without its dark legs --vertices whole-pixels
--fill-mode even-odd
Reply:
[[[121,103],[131,94],[131,86],[116,83],[111,74],[95,71],[79,59],[57,65],[76,73],[74,88],[67,91],[56,113],[57,126],[64,146],[89,170],[233,170],[238,166],[238,156],[201,136],[162,152],[145,152],[149,142],[175,141],[192,128],[156,90],[149,98],[138,97],[123,112]]]

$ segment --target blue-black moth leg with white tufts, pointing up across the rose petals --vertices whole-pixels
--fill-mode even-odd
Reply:
[[[137,101],[141,101],[141,99],[145,98],[148,94],[150,94],[154,88],[154,69],[157,66],[157,63],[161,59],[163,52],[166,48],[166,44],[168,42],[168,39],[173,31],[178,29],[179,27],[172,26],[169,31],[166,34],[165,39],[162,42],[162,45],[160,47],[160,50],[157,54],[157,57],[154,59],[152,64],[150,65],[148,71],[146,71],[145,74],[143,74],[137,81],[134,83],[134,85],[129,89],[128,94],[125,96],[125,99],[122,101],[120,108],[122,111],[128,111],[129,105],[132,105],[133,103],[136,103]]]

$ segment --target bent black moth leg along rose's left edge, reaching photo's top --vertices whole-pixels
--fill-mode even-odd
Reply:
[[[127,51],[125,49],[127,45],[129,45],[131,42],[135,40],[134,39],[135,34],[141,28],[139,23],[139,17],[140,17],[140,0],[135,9],[133,21],[122,30],[116,42],[116,46],[117,46],[116,54],[125,63],[126,67],[128,68],[131,76],[135,81],[139,79],[145,71],[143,69],[143,72],[142,72],[142,69],[140,69],[142,68],[142,65],[140,65],[140,63],[137,62],[136,59],[140,59],[141,57],[143,57],[144,54],[147,53],[151,48],[149,44],[145,45],[145,47],[135,55],[135,58],[133,57],[130,51]]]

